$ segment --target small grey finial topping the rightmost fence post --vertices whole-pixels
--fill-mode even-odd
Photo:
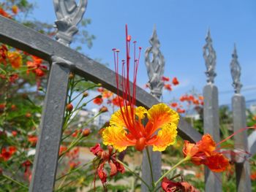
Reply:
[[[235,89],[235,93],[240,93],[241,87],[243,86],[240,82],[241,77],[241,66],[238,62],[238,55],[236,53],[236,44],[234,45],[234,50],[232,54],[232,61],[230,63],[231,76],[233,79],[233,87]]]

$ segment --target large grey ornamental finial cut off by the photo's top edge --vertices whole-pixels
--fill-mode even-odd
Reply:
[[[69,46],[73,36],[78,32],[77,25],[86,11],[87,0],[80,0],[79,5],[75,0],[53,0],[56,16],[56,39],[58,42]]]

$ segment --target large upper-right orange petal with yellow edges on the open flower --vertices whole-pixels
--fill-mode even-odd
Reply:
[[[148,135],[154,134],[158,128],[169,123],[178,126],[178,120],[178,113],[175,110],[170,109],[167,104],[156,104],[148,110],[148,124],[150,125],[150,123],[153,123],[153,125],[146,126],[146,133]]]

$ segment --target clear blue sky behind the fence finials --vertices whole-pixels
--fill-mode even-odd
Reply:
[[[32,1],[32,0],[31,0]],[[37,0],[33,18],[54,23],[53,2]],[[91,18],[88,31],[97,39],[91,49],[83,53],[91,58],[102,58],[113,69],[112,48],[124,50],[124,26],[143,47],[138,85],[148,77],[144,64],[144,51],[149,47],[154,24],[165,57],[165,76],[178,77],[181,85],[172,92],[164,92],[170,101],[195,88],[202,93],[206,85],[206,66],[203,45],[208,28],[211,28],[214,49],[217,53],[219,104],[229,104],[233,96],[230,61],[236,42],[238,61],[241,64],[242,94],[247,100],[256,99],[256,1],[255,0],[89,0],[84,17]]]

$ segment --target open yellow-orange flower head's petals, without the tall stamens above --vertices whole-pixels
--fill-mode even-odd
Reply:
[[[150,110],[137,107],[135,118],[132,118],[131,108],[123,107],[111,116],[110,126],[102,132],[104,145],[113,145],[119,152],[128,146],[143,150],[149,145],[153,146],[154,151],[163,151],[176,142],[179,120],[176,111],[166,104],[156,104]],[[146,119],[148,123],[144,126]]]

